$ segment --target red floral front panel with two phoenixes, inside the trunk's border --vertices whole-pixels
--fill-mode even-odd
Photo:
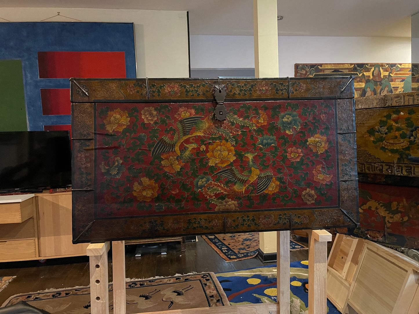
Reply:
[[[227,106],[97,104],[97,217],[339,206],[333,100]]]

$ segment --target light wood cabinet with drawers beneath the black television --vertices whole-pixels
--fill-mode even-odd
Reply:
[[[0,196],[0,262],[85,255],[72,244],[71,192]]]

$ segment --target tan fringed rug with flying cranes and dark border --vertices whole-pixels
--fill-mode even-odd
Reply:
[[[191,309],[229,305],[214,273],[176,275],[127,281],[127,313]],[[19,301],[52,314],[89,314],[90,288],[75,287],[24,293],[10,297],[3,306]],[[113,313],[112,285],[109,285],[109,313]]]

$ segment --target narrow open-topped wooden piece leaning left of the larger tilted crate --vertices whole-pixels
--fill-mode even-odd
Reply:
[[[327,297],[344,313],[364,240],[336,234],[327,260]]]

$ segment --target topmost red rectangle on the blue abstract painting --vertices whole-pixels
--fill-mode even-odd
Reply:
[[[38,51],[39,78],[127,77],[124,51]]]

